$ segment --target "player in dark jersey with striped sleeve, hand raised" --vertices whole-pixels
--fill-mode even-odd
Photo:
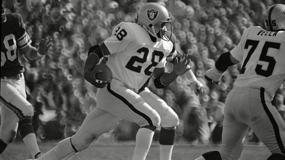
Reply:
[[[2,5],[1,15],[1,125],[0,155],[11,143],[19,128],[20,134],[32,157],[40,152],[32,127],[34,109],[26,100],[24,67],[18,54],[29,60],[38,60],[47,53],[51,39],[42,39],[37,47],[31,46],[22,16],[18,13],[5,14]],[[20,52],[18,52],[18,50]]]

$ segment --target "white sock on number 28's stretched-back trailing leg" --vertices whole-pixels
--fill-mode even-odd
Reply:
[[[70,143],[70,137],[58,142],[58,144],[45,153],[43,156],[37,160],[60,160],[69,156],[73,151],[72,145]]]

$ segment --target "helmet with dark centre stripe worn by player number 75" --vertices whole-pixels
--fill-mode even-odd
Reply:
[[[274,4],[269,7],[264,14],[264,23],[269,31],[285,29],[285,5]]]

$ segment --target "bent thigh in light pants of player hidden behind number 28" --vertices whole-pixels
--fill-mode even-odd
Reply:
[[[149,91],[146,88],[143,92],[139,94],[143,100],[151,106],[160,116],[160,124],[162,127],[175,127],[179,124],[178,115],[173,111],[173,109],[167,105],[167,103],[162,100],[159,96]]]

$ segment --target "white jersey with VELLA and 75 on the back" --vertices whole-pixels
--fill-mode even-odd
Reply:
[[[285,80],[285,31],[247,28],[230,53],[242,61],[234,86],[263,87],[273,98]]]

